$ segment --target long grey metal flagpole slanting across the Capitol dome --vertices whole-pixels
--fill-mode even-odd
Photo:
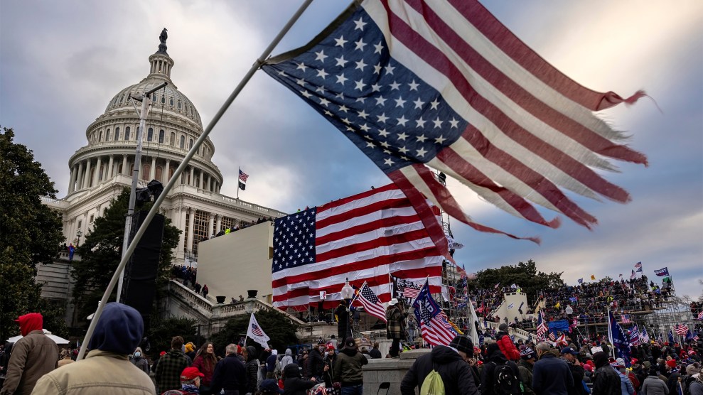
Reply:
[[[181,173],[183,173],[183,171],[186,169],[186,166],[188,166],[188,163],[190,163],[190,159],[193,158],[196,152],[198,152],[200,146],[203,145],[205,139],[208,138],[210,131],[213,131],[215,125],[218,124],[218,121],[220,121],[220,118],[222,118],[222,115],[225,114],[232,102],[234,102],[240,92],[242,92],[242,89],[244,89],[245,85],[247,85],[247,82],[252,79],[254,72],[256,72],[259,67],[264,64],[264,61],[272,53],[274,48],[276,48],[276,45],[278,45],[281,39],[286,35],[286,33],[288,33],[293,24],[298,20],[298,18],[300,18],[302,13],[305,11],[305,9],[308,8],[311,3],[312,0],[305,0],[305,2],[299,7],[296,13],[291,16],[290,20],[281,29],[278,35],[272,40],[269,46],[264,50],[262,55],[259,56],[256,62],[254,62],[254,65],[252,65],[247,74],[242,78],[239,85],[235,87],[235,90],[232,91],[230,97],[227,97],[227,100],[225,100],[225,104],[222,104],[222,107],[220,107],[218,112],[215,114],[213,120],[210,121],[208,127],[205,128],[203,134],[200,134],[198,140],[195,141],[195,144],[193,144],[193,147],[190,148],[190,151],[188,151],[186,157],[183,158],[181,164],[178,166],[178,168],[176,168],[176,171],[171,176],[171,179],[168,180],[168,183],[166,183],[166,186],[164,186],[163,192],[161,193],[161,195],[159,195],[159,198],[156,199],[154,205],[151,206],[151,210],[149,210],[149,214],[146,215],[144,223],[141,224],[139,230],[137,230],[136,234],[134,234],[134,239],[132,240],[132,243],[129,244],[127,252],[122,256],[122,260],[119,261],[119,265],[117,265],[117,269],[114,271],[112,279],[110,280],[109,284],[107,285],[107,289],[105,289],[105,292],[102,295],[100,305],[97,306],[97,310],[95,310],[95,315],[93,315],[93,318],[90,321],[90,325],[88,326],[88,330],[85,333],[85,337],[83,338],[83,344],[80,346],[80,352],[78,352],[78,357],[76,358],[76,360],[83,359],[83,357],[85,356],[85,350],[87,348],[88,342],[90,342],[90,337],[95,331],[95,325],[97,325],[97,321],[100,320],[100,315],[102,315],[102,309],[107,304],[107,299],[109,298],[110,293],[112,293],[112,290],[114,289],[114,286],[117,283],[117,278],[119,277],[119,274],[122,273],[122,271],[124,270],[124,266],[127,265],[127,260],[129,260],[129,257],[132,256],[132,254],[134,253],[134,249],[136,249],[136,244],[139,243],[139,240],[141,240],[141,237],[144,235],[144,232],[146,232],[146,228],[149,227],[151,219],[154,218],[154,215],[156,215],[157,212],[159,212],[159,207],[161,207],[161,203],[163,202],[163,200],[166,199],[166,195],[168,195],[168,192],[171,190],[171,188],[173,188],[173,184],[175,184],[176,180],[179,179]],[[239,175],[237,175],[237,180],[239,180]]]

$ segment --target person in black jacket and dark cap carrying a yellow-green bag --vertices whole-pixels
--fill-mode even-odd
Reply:
[[[466,336],[458,335],[449,346],[438,345],[431,352],[415,359],[400,383],[402,395],[414,395],[425,377],[436,369],[444,381],[444,393],[456,395],[478,395],[473,374],[466,362],[473,356],[473,343]]]

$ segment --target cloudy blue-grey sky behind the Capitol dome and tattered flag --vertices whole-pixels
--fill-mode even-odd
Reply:
[[[206,125],[300,1],[35,1],[0,4],[0,125],[33,149],[60,196],[68,158],[87,144],[86,127],[119,90],[149,72],[168,28],[173,82]],[[595,274],[626,277],[638,261],[647,276],[667,266],[679,295],[701,295],[703,278],[703,2],[483,1],[543,58],[586,87],[629,96],[632,107],[600,114],[628,131],[650,166],[617,163],[606,178],[633,201],[572,197],[599,219],[592,231],[569,220],[530,224],[455,193],[478,222],[542,245],[474,232],[452,221],[468,271],[533,259],[567,283]],[[307,43],[346,1],[316,1],[273,55]],[[204,125],[204,126],[205,126]],[[389,181],[363,153],[304,102],[257,72],[215,126],[222,192],[236,194],[237,167],[250,175],[240,198],[294,212]],[[450,186],[456,186],[450,183]],[[553,217],[543,212],[547,217]]]

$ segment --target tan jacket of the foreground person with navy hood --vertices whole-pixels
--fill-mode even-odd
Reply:
[[[85,359],[46,374],[32,394],[154,395],[154,382],[127,355],[92,350]]]

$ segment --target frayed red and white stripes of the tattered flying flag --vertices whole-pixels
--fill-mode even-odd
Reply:
[[[643,92],[623,99],[582,87],[475,0],[382,0],[362,6],[384,32],[392,58],[442,92],[470,124],[427,166],[460,180],[510,214],[549,227],[559,221],[545,220],[528,200],[589,228],[596,218],[564,190],[596,200],[630,200],[626,190],[593,168],[614,170],[603,157],[643,164],[647,159],[618,144],[626,136],[593,112],[632,103]],[[409,189],[419,190],[471,227],[504,233],[473,222],[423,168],[407,166],[390,176],[409,198]]]

